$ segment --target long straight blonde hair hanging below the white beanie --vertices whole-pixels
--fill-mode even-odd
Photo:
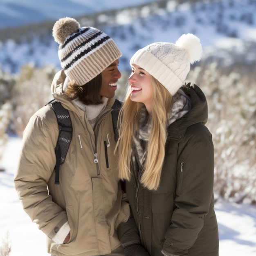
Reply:
[[[153,86],[152,123],[140,182],[150,190],[157,190],[164,163],[167,117],[171,111],[172,96],[153,76],[151,76],[151,83]],[[119,177],[121,180],[130,180],[131,178],[131,148],[134,147],[134,134],[139,130],[139,113],[144,105],[131,101],[130,95],[129,88],[118,119],[119,139],[116,151],[119,155]]]

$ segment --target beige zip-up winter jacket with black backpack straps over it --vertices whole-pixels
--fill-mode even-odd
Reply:
[[[122,201],[112,127],[110,99],[92,130],[85,112],[63,98],[65,74],[60,71],[52,83],[53,97],[69,110],[73,137],[60,184],[54,184],[55,146],[58,124],[54,111],[45,106],[29,120],[22,139],[22,151],[14,177],[24,210],[47,235],[47,252],[56,256],[109,254],[119,247],[117,227],[130,216]],[[109,147],[104,144],[109,143]],[[98,163],[94,163],[94,153]],[[70,225],[67,244],[51,239],[61,226]],[[36,253],[36,252],[35,252]]]

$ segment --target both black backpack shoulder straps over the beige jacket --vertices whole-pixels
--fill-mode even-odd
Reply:
[[[60,184],[59,174],[60,174],[60,165],[64,163],[65,157],[67,155],[67,150],[70,146],[72,139],[72,124],[70,120],[70,115],[67,109],[65,109],[61,103],[55,99],[49,101],[47,105],[51,106],[55,112],[58,121],[58,140],[55,148],[56,154],[56,165],[55,165],[55,184]],[[118,129],[117,129],[117,119],[119,115],[119,110],[122,106],[122,102],[115,100],[115,103],[112,106],[112,123],[115,133],[115,141],[118,139]]]

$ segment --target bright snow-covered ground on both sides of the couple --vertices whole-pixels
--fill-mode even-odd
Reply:
[[[13,173],[21,139],[10,137],[0,160],[0,246],[9,233],[10,256],[47,256],[45,235],[22,209],[14,189]],[[220,234],[220,256],[256,255],[256,207],[247,204],[216,203]],[[203,256],[203,255],[199,255]]]

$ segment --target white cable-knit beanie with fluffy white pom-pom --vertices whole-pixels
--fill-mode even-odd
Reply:
[[[139,49],[130,65],[142,67],[154,76],[173,96],[182,87],[190,64],[200,61],[202,45],[193,34],[183,34],[175,44],[159,42]]]

